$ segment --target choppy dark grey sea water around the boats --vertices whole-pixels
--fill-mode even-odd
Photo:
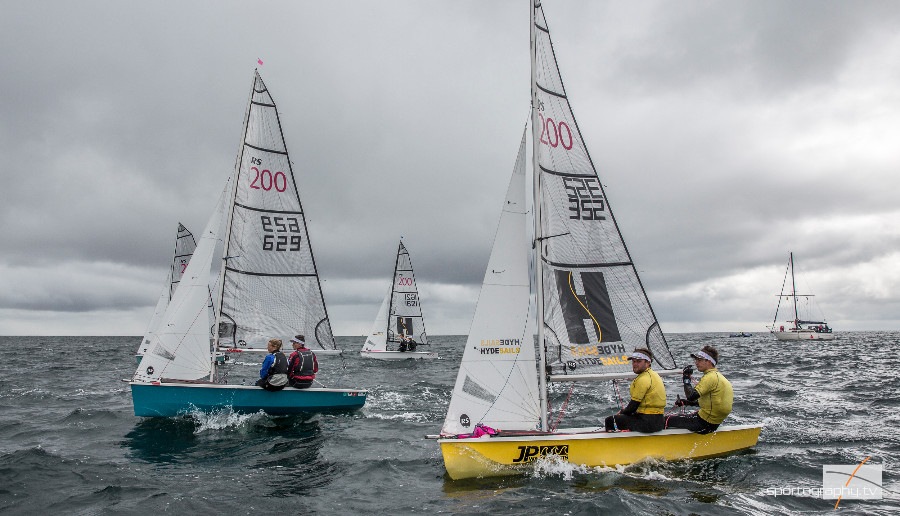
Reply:
[[[350,353],[321,357],[318,376],[369,389],[362,410],[154,419],[134,416],[121,381],[139,337],[0,337],[0,512],[818,513],[834,510],[810,494],[822,467],[866,457],[883,467],[885,498],[839,510],[900,511],[900,332],[838,332],[831,342],[671,334],[682,366],[689,352],[718,347],[735,392],[725,423],[764,423],[755,448],[615,468],[546,458],[527,475],[462,481],[446,476],[424,436],[440,430],[465,337],[433,338],[443,360],[404,362],[358,357],[363,341],[339,337]],[[229,380],[255,379],[262,358],[235,359]],[[666,380],[670,406],[679,380]],[[569,398],[561,426],[600,426],[619,408],[612,382],[571,387],[552,386],[552,421]]]

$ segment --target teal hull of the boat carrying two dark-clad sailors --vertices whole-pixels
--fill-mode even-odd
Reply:
[[[349,411],[366,403],[365,390],[294,389],[277,392],[249,385],[131,382],[134,415],[172,417],[195,411],[230,409],[241,414],[263,411],[274,416]]]

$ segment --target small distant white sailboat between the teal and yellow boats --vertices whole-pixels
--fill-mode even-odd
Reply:
[[[440,358],[437,353],[418,348],[427,345],[428,335],[425,333],[416,275],[409,251],[401,240],[394,261],[391,288],[381,302],[372,332],[359,354],[378,360]]]

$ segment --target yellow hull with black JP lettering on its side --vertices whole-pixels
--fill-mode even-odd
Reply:
[[[530,471],[541,457],[558,456],[588,467],[626,465],[652,457],[661,460],[702,459],[754,446],[762,426],[723,427],[700,435],[687,430],[586,432],[478,439],[441,439],[450,478],[490,477]]]

